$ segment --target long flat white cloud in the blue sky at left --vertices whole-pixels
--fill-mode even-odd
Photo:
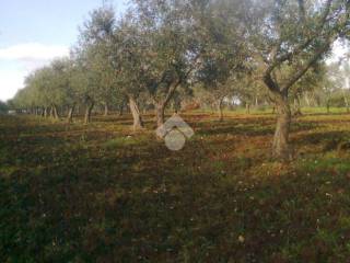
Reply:
[[[68,56],[69,48],[58,45],[26,43],[0,48],[0,59],[7,60],[46,60]]]

